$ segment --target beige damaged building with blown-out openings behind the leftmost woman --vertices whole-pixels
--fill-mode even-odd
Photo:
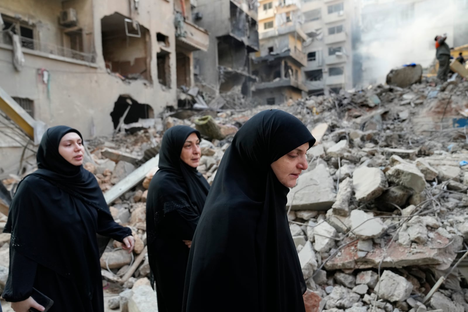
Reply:
[[[190,2],[0,1],[0,175],[34,154],[39,121],[88,139],[174,106],[209,45]]]

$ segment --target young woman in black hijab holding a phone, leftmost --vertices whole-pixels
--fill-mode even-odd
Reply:
[[[79,131],[49,128],[37,151],[39,169],[18,186],[4,230],[11,241],[2,294],[15,312],[44,310],[30,297],[33,288],[54,301],[50,312],[103,312],[96,233],[133,250],[132,231],[114,222],[83,155]]]

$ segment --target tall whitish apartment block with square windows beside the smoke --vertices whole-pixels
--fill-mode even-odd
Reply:
[[[358,0],[302,0],[302,29],[310,37],[304,44],[303,68],[308,94],[337,93],[354,86],[352,44],[359,7]]]

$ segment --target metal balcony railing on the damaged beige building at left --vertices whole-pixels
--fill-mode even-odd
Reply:
[[[62,47],[56,44],[49,44],[49,43],[41,42],[36,39],[27,38],[27,37],[20,36],[20,39],[21,39],[21,45],[25,49],[49,53],[49,54],[61,56],[64,58],[77,59],[77,60],[85,61],[89,63],[96,62],[96,56],[94,53],[80,52],[80,51],[72,50],[72,49]],[[3,33],[0,32],[0,44],[12,45],[11,36],[6,32],[3,32]]]

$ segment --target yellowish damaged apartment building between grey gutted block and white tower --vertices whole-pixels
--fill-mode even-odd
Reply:
[[[258,76],[253,96],[261,104],[282,104],[307,92],[301,73],[307,65],[302,50],[307,35],[300,27],[300,7],[300,0],[260,1],[260,51],[253,58],[252,74]]]

